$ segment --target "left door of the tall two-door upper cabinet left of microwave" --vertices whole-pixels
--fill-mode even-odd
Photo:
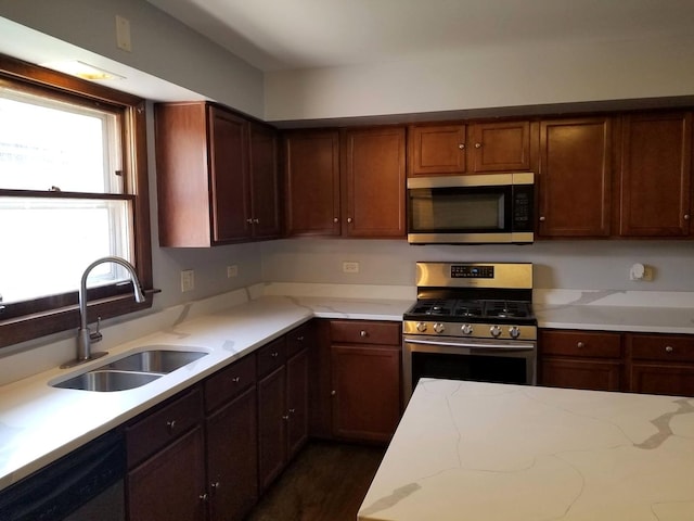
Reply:
[[[290,236],[339,236],[337,131],[285,137],[286,231]]]

